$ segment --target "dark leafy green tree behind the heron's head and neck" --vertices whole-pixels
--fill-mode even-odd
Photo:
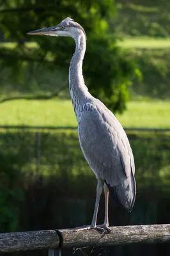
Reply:
[[[17,42],[15,47],[1,47],[1,67],[10,67],[16,81],[31,79],[40,67],[57,69],[68,74],[68,65],[74,51],[72,38],[28,36],[27,31],[54,26],[71,16],[81,23],[88,35],[84,58],[84,78],[89,92],[101,99],[112,111],[123,111],[128,99],[127,86],[136,74],[132,60],[116,44],[116,35],[109,33],[107,20],[115,12],[114,0],[6,0],[0,9],[0,30],[4,39]],[[28,47],[35,41],[38,47]],[[28,68],[30,76],[26,78]],[[29,84],[30,86],[30,84]],[[33,88],[35,81],[33,83]],[[53,83],[54,88],[59,84]],[[56,95],[56,93],[54,93]]]

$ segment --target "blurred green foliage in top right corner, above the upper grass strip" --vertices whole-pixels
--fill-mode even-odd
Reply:
[[[111,31],[123,36],[167,37],[170,35],[169,1],[120,0]],[[127,26],[128,24],[128,26]]]

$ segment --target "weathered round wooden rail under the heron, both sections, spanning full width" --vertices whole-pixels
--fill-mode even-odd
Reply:
[[[0,252],[108,246],[134,243],[170,243],[170,224],[112,227],[111,234],[97,230],[41,230],[0,234]]]

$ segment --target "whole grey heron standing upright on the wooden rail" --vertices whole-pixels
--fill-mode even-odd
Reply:
[[[70,36],[75,40],[75,52],[69,68],[70,95],[77,117],[79,143],[86,161],[97,177],[97,195],[91,225],[75,230],[98,228],[111,232],[108,218],[109,191],[112,198],[128,211],[134,206],[134,156],[127,134],[116,116],[88,92],[84,83],[82,61],[86,51],[86,33],[80,24],[68,17],[57,26],[38,29],[28,34]],[[97,225],[98,205],[103,186],[105,218],[102,225]]]

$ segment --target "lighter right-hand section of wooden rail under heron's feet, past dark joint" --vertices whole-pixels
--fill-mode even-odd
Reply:
[[[139,243],[170,243],[170,224],[111,227],[111,234],[97,230],[72,232],[59,230],[63,237],[63,248],[73,246],[110,246]]]

